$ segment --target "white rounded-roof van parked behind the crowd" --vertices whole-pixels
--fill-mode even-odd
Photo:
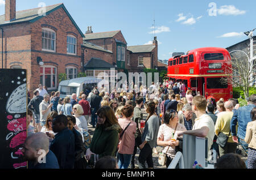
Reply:
[[[81,91],[92,91],[93,87],[97,83],[101,82],[101,79],[93,77],[82,77],[69,80],[63,80],[59,84],[58,91],[60,92],[60,97],[64,98],[66,96],[71,97],[73,93],[79,96]]]

